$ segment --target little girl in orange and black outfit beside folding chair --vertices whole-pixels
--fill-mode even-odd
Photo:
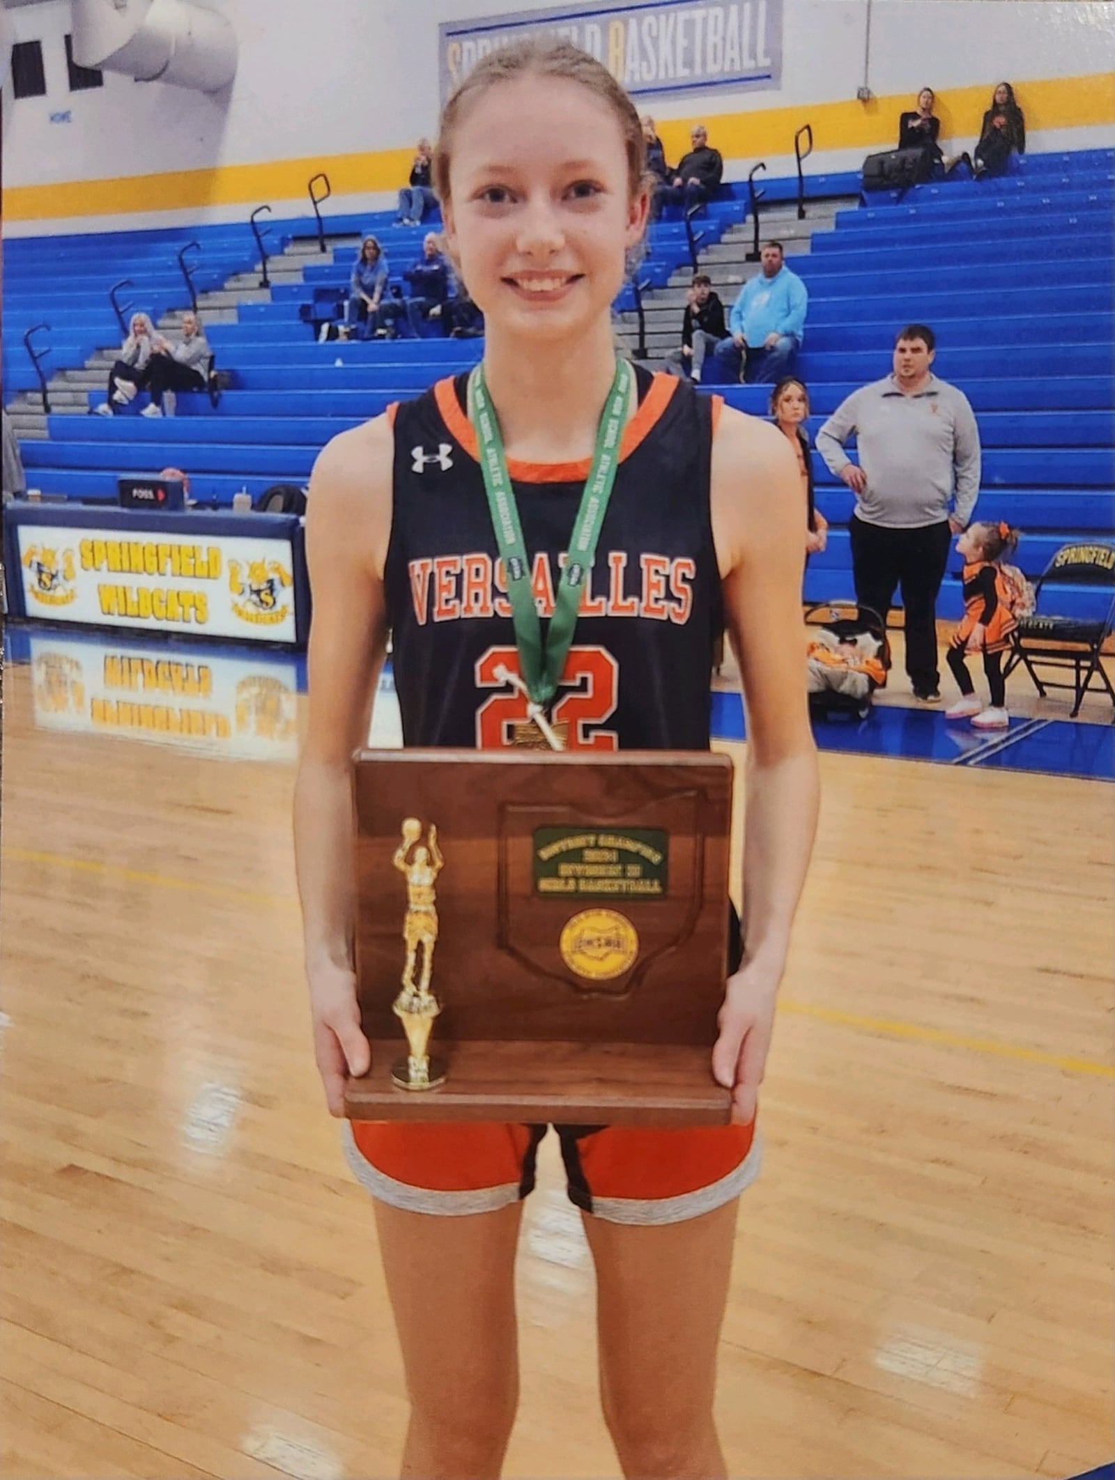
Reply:
[[[971,719],[976,730],[1005,730],[1010,724],[1002,654],[1019,623],[1001,561],[1017,549],[1017,543],[1019,531],[1002,522],[970,524],[957,540],[957,554],[964,556],[964,616],[952,635],[948,663],[961,697],[945,710],[945,718]],[[968,673],[968,653],[983,654],[991,691],[986,709]]]

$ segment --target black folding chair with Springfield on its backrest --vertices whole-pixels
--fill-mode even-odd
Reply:
[[[1059,617],[1042,611],[1042,604],[1056,601],[1057,586],[1106,586],[1112,592],[1102,617]],[[1042,601],[1045,598],[1045,601]],[[1044,699],[1047,688],[1069,688],[1075,696],[1072,718],[1079,713],[1084,696],[1099,678],[1096,688],[1105,688],[1115,704],[1115,688],[1100,660],[1100,650],[1115,626],[1115,545],[1099,540],[1074,540],[1062,545],[1035,585],[1035,611],[1020,617],[1011,636],[1010,657],[1004,676],[1022,665]],[[1039,678],[1038,667],[1072,673],[1072,682]]]

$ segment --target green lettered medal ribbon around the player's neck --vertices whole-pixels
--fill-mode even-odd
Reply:
[[[597,540],[619,469],[619,441],[632,380],[631,366],[617,360],[612,389],[597,428],[597,445],[592,453],[588,482],[580,496],[569,556],[555,593],[554,616],[549,619],[549,630],[543,642],[542,623],[532,588],[530,558],[523,542],[523,525],[518,521],[515,490],[511,487],[503,438],[484,382],[483,364],[477,366],[468,379],[468,416],[480,444],[480,469],[484,475],[496,545],[506,573],[518,662],[535,715],[549,707],[573,642],[582,588],[597,558]]]

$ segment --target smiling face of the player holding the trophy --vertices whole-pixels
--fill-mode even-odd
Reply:
[[[606,99],[538,74],[489,87],[455,129],[449,185],[446,243],[489,334],[554,340],[610,312],[649,197]]]

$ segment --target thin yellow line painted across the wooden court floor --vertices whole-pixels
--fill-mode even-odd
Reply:
[[[215,894],[222,900],[243,900],[250,904],[269,904],[280,907],[295,907],[293,895],[264,894],[258,889],[240,889],[235,885],[209,884],[203,879],[176,879],[166,873],[151,873],[147,869],[127,869],[118,863],[101,863],[95,858],[70,858],[61,852],[43,852],[33,848],[4,848],[4,858],[18,858],[21,863],[41,863],[47,867],[74,869],[80,873],[108,873],[129,884],[150,884],[163,889],[182,889],[187,894]],[[1041,1048],[1028,1048],[1025,1043],[1005,1043],[991,1037],[970,1037],[965,1033],[952,1033],[948,1029],[925,1027],[921,1023],[903,1023],[896,1018],[865,1017],[860,1012],[843,1012],[840,1008],[825,1008],[816,1002],[795,1002],[791,998],[779,999],[779,1012],[791,1012],[795,1017],[811,1017],[834,1027],[850,1027],[862,1033],[881,1033],[887,1037],[903,1037],[917,1043],[940,1043],[943,1048],[965,1048],[974,1054],[994,1054],[997,1058],[1016,1058],[1028,1064],[1045,1064],[1050,1069],[1062,1069],[1071,1074],[1097,1074],[1102,1079],[1115,1079],[1115,1066],[1103,1064],[1094,1058],[1075,1058],[1071,1054],[1050,1054]]]

